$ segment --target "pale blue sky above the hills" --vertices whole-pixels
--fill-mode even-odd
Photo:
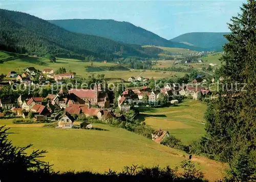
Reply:
[[[42,19],[115,19],[166,39],[189,32],[228,32],[246,1],[1,1],[0,8]]]

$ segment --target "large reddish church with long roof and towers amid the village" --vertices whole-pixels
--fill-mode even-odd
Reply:
[[[95,84],[93,89],[72,88],[69,93],[75,94],[84,101],[90,101],[92,105],[98,105],[101,108],[110,107],[109,96],[101,90],[101,84]]]

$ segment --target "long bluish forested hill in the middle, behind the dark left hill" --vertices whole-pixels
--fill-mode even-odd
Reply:
[[[49,22],[72,32],[102,36],[124,43],[204,51],[202,48],[168,41],[125,21],[115,21],[112,19],[62,19],[49,20]]]

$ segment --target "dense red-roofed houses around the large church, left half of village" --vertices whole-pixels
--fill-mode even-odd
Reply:
[[[17,102],[2,98],[0,106],[11,110],[16,117],[28,118],[32,113],[34,121],[58,121],[60,128],[71,128],[76,119],[74,116],[81,114],[99,120],[123,120],[123,116],[114,115],[109,95],[101,88],[101,84],[95,84],[93,89],[70,89],[68,93],[60,90],[58,94],[49,94],[46,98],[20,95]]]

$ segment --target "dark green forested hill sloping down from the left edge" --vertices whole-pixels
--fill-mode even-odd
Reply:
[[[139,45],[67,31],[27,13],[0,9],[0,50],[56,56],[141,56]]]

